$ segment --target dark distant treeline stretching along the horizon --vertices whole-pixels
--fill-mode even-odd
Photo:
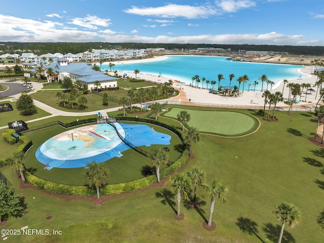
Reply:
[[[69,52],[76,54],[92,49],[146,49],[146,48],[164,48],[165,50],[178,49],[179,51],[194,50],[198,47],[203,48],[230,48],[232,52],[239,50],[246,51],[274,51],[288,52],[290,55],[312,55],[324,56],[324,46],[275,46],[275,45],[224,45],[224,44],[163,44],[163,43],[103,43],[103,42],[87,42],[87,43],[21,43],[21,42],[0,42],[0,50],[3,53],[20,54],[16,50],[27,52],[30,50],[34,54],[42,55],[46,53],[62,53]]]

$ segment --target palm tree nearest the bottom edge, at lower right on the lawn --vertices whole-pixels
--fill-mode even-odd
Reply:
[[[282,235],[284,234],[285,224],[288,224],[291,228],[298,225],[301,222],[300,213],[294,205],[286,202],[276,205],[272,213],[276,216],[277,220],[282,223],[278,238],[278,243],[280,243]]]

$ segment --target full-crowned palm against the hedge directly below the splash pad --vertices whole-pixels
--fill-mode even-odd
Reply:
[[[95,160],[92,163],[86,164],[84,177],[89,187],[94,187],[97,190],[98,199],[100,198],[99,188],[106,185],[108,181],[108,169],[104,163],[97,163]]]

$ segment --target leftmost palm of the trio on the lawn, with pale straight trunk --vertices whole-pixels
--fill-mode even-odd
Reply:
[[[174,177],[170,178],[170,182],[174,187],[175,192],[177,193],[177,202],[178,202],[177,216],[180,217],[181,197],[184,197],[185,199],[188,198],[188,193],[190,191],[190,180],[188,177],[186,177],[185,173],[177,173]]]

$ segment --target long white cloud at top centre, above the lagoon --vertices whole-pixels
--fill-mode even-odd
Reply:
[[[206,18],[217,14],[217,9],[213,5],[207,6],[189,6],[168,4],[163,7],[135,7],[124,10],[128,14],[137,14],[142,16],[156,16],[161,18],[183,17],[187,19]]]

